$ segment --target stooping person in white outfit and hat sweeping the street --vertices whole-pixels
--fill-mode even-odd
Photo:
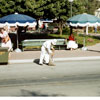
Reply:
[[[40,55],[40,61],[39,64],[43,65],[43,62],[45,61],[46,64],[48,65],[54,65],[52,64],[52,57],[54,55],[54,48],[53,45],[56,45],[57,40],[48,40],[43,43],[41,47],[41,55]]]

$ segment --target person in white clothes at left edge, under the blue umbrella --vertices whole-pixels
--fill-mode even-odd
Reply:
[[[8,35],[8,32],[2,28],[0,30],[0,37],[1,37],[1,47],[8,47],[8,51],[12,49],[11,39]]]

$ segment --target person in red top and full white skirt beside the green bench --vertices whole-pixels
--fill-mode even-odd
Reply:
[[[73,49],[76,49],[76,48],[78,48],[78,44],[75,41],[74,35],[71,34],[69,36],[69,41],[67,43],[67,49],[73,50]]]

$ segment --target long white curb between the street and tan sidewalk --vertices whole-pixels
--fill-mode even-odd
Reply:
[[[36,59],[9,60],[10,64],[33,63]],[[54,58],[54,61],[100,60],[100,56]]]

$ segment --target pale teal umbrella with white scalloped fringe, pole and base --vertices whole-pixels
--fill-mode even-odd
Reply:
[[[86,34],[88,34],[88,27],[100,26],[100,19],[94,15],[84,13],[69,18],[67,23],[72,27],[86,27]],[[86,50],[87,48],[85,47],[85,38],[83,44],[83,50]]]

